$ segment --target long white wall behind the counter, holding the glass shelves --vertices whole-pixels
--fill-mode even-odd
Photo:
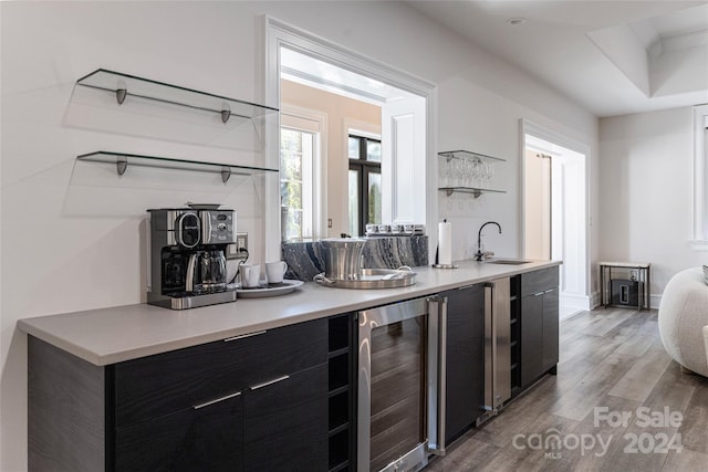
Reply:
[[[132,168],[117,179],[76,165],[76,155],[97,149],[248,159],[218,140],[198,146],[214,129],[195,116],[178,114],[170,125],[169,115],[122,108],[104,116],[100,108],[101,119],[87,119],[93,108],[71,99],[87,72],[113,69],[258,102],[261,14],[269,13],[438,84],[440,150],[508,159],[494,177],[508,193],[482,197],[479,208],[455,217],[455,259],[488,219],[504,230],[488,237],[488,248],[503,255],[519,249],[520,118],[586,143],[596,156],[591,114],[398,2],[0,2],[0,9],[2,471],[27,469],[27,339],[17,319],[144,301],[146,208],[218,199],[237,209],[251,244],[263,239],[262,196],[250,181],[225,188]]]

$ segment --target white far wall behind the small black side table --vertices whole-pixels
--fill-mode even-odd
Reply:
[[[693,108],[600,120],[600,258],[652,263],[652,306],[677,272],[708,264],[691,248]]]

